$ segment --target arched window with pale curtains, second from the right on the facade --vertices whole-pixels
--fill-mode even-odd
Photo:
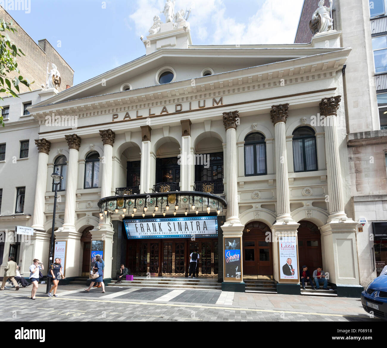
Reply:
[[[266,143],[261,133],[245,138],[245,176],[266,174]]]

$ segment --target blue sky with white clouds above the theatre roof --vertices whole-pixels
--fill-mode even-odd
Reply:
[[[165,21],[160,11],[166,0],[23,1],[24,10],[8,9],[9,14],[35,42],[47,39],[57,49],[74,70],[74,85],[145,55],[140,36],[149,34],[154,15]],[[302,3],[176,0],[175,11],[192,9],[194,45],[290,44]]]

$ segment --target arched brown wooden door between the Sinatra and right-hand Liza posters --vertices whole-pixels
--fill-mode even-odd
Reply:
[[[266,241],[269,227],[259,221],[245,226],[243,244],[243,276],[273,276],[272,243]]]

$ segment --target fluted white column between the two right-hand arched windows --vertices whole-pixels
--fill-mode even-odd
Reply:
[[[279,104],[270,111],[276,143],[277,220],[291,219],[285,130],[288,109],[289,104]]]

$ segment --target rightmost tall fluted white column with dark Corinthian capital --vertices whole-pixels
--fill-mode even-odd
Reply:
[[[327,159],[327,179],[329,195],[328,222],[334,218],[346,218],[342,192],[339,141],[337,139],[337,109],[341,96],[322,99],[320,115],[325,116],[325,156]]]

